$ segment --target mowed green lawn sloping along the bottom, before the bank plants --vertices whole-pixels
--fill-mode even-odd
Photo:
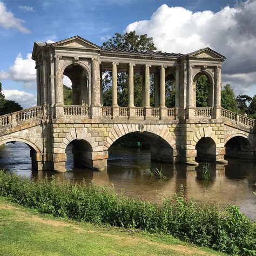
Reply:
[[[225,255],[172,238],[59,220],[0,197],[0,255]]]

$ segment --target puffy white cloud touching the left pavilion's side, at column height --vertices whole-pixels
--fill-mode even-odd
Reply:
[[[9,67],[8,71],[0,71],[0,79],[11,79],[16,82],[24,82],[30,84],[36,80],[35,61],[31,59],[32,54],[28,53],[26,58],[22,58],[18,53],[14,65]]]

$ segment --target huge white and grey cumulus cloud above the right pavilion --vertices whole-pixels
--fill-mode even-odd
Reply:
[[[149,21],[131,23],[125,31],[147,33],[158,50],[166,52],[188,53],[208,46],[227,57],[224,80],[232,81],[233,86],[242,85],[246,91],[256,84],[255,79],[246,78],[256,71],[255,13],[254,0],[239,2],[233,8],[226,6],[215,13],[163,4]]]

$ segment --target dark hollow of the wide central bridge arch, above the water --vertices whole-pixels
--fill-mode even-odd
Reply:
[[[173,163],[172,147],[166,140],[151,132],[132,132],[120,137],[109,148],[110,158],[118,147],[149,150],[151,161]]]

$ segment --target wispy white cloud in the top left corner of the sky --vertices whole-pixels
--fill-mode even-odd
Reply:
[[[14,17],[14,14],[6,9],[5,4],[0,2],[0,26],[5,29],[17,29],[23,33],[30,33],[31,31],[26,29],[22,23],[24,23],[22,19]]]

